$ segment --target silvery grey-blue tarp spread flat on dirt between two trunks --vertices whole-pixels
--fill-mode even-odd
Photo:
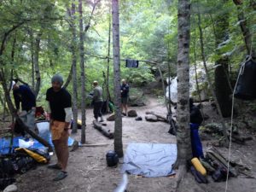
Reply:
[[[176,144],[130,143],[126,148],[121,172],[144,177],[169,176],[175,174],[172,164],[176,159]]]

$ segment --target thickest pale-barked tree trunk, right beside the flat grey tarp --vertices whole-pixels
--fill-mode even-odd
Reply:
[[[189,128],[190,1],[179,0],[177,9],[177,186],[192,156]],[[175,186],[176,187],[176,186]]]

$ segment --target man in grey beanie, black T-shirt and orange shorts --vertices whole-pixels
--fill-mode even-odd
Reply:
[[[49,165],[48,168],[61,170],[53,179],[59,181],[67,177],[67,140],[72,119],[72,105],[69,92],[62,87],[61,75],[55,74],[51,84],[52,86],[46,92],[46,101],[49,104],[50,131],[58,162]]]

